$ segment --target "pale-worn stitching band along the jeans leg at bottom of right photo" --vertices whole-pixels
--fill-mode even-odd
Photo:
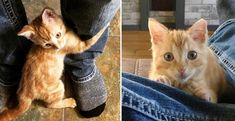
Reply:
[[[123,87],[123,90],[122,90],[123,104],[122,104],[122,106],[134,109],[134,110],[139,111],[141,113],[144,113],[145,115],[147,115],[155,120],[163,120],[163,118],[164,118],[164,120],[174,119],[174,120],[179,120],[179,121],[204,119],[203,117],[198,116],[198,115],[189,115],[189,114],[184,114],[182,112],[175,112],[175,111],[167,110],[167,109],[161,109],[161,111],[159,111],[159,107],[154,105],[153,102],[148,101],[148,100],[144,100],[145,99],[144,97],[139,96],[139,95],[135,94],[134,92],[132,93],[132,91],[130,91],[130,90],[128,90],[128,91],[126,91],[126,90],[128,90],[128,89]],[[137,105],[137,104],[139,104],[139,105]],[[174,116],[171,116],[171,115],[174,115]]]

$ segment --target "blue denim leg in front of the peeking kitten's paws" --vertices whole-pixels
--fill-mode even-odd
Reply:
[[[235,105],[209,103],[179,89],[122,74],[123,121],[234,121]]]

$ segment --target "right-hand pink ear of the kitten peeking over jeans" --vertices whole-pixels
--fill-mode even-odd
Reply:
[[[195,22],[191,28],[189,28],[190,36],[195,41],[204,43],[207,39],[207,22],[204,19],[200,19]]]

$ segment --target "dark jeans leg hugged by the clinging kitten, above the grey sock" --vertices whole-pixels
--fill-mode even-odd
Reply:
[[[61,13],[66,25],[87,40],[112,20],[119,6],[120,0],[61,0]],[[92,73],[94,59],[103,52],[107,38],[108,30],[89,50],[65,58],[66,70],[74,80]]]

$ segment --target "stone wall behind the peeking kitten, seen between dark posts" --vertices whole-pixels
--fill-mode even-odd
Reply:
[[[162,23],[175,23],[174,11],[150,11],[150,17]],[[139,0],[122,0],[122,24],[139,25]],[[209,25],[218,25],[216,0],[185,0],[185,25],[191,25],[200,18],[208,21]]]

